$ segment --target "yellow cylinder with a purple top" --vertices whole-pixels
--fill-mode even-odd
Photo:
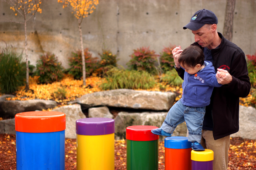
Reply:
[[[114,170],[114,119],[76,120],[77,170]]]

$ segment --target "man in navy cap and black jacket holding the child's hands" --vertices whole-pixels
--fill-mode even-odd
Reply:
[[[250,93],[251,83],[244,52],[217,32],[217,23],[215,14],[203,9],[197,11],[183,29],[192,31],[194,45],[203,50],[204,60],[212,62],[218,82],[223,84],[214,87],[210,104],[206,107],[201,144],[214,152],[213,169],[226,170],[230,135],[239,130],[239,97]],[[181,53],[181,46],[172,51],[176,71],[183,79],[184,70],[178,63]],[[220,71],[226,76],[219,77]]]

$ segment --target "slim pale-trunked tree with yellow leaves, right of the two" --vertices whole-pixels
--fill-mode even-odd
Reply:
[[[83,18],[90,15],[98,5],[98,0],[58,0],[58,2],[63,3],[63,8],[68,7],[75,17],[78,19],[78,28],[80,34],[80,43],[82,51],[82,75],[83,75],[83,85],[86,86],[85,82],[85,56],[84,56],[84,46],[82,41],[82,29],[81,23]]]

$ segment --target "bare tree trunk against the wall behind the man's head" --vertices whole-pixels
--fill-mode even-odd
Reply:
[[[233,38],[233,19],[235,11],[235,0],[226,0],[226,11],[223,28],[223,37],[232,42]]]

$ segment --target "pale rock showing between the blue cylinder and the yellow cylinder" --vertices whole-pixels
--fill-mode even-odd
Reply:
[[[65,138],[76,138],[76,120],[86,118],[82,113],[81,106],[79,104],[62,106],[52,111],[59,111],[66,114],[66,130]]]

